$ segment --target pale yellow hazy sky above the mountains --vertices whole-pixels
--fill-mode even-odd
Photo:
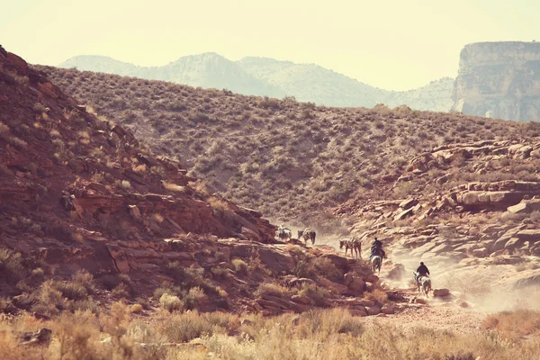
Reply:
[[[0,44],[31,63],[159,66],[215,51],[316,63],[389,90],[455,77],[467,43],[540,40],[538,0],[17,0],[0,14]]]

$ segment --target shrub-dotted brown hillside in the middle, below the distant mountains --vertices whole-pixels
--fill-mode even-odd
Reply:
[[[121,121],[157,153],[182,159],[192,175],[227,198],[267,216],[317,222],[320,228],[335,228],[337,223],[326,210],[357,195],[400,199],[423,191],[392,184],[406,171],[410,158],[430,148],[484,139],[518,140],[537,133],[532,124],[457,113],[382,105],[328,108],[292,99],[40,68],[67,94]],[[501,171],[458,172],[454,181],[489,179]],[[437,170],[435,175],[444,172]]]

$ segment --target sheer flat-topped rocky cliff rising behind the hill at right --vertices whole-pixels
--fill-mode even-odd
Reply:
[[[540,43],[480,42],[461,52],[453,110],[518,121],[540,120]]]

